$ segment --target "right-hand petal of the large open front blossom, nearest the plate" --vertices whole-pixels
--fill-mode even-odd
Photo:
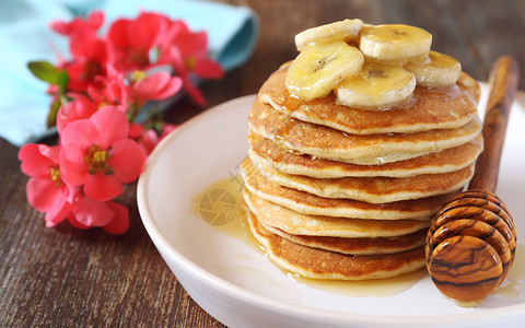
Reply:
[[[117,179],[128,184],[139,177],[145,156],[137,142],[131,139],[117,141],[112,149],[109,165]]]

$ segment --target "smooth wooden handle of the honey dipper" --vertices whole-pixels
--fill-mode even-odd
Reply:
[[[495,192],[506,122],[517,89],[518,77],[520,66],[510,56],[500,57],[490,70],[490,94],[482,130],[485,150],[476,162],[476,171],[468,189]]]

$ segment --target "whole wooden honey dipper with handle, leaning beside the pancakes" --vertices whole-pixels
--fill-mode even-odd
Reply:
[[[518,73],[512,57],[500,57],[493,65],[482,129],[485,150],[468,190],[435,214],[427,235],[430,277],[445,296],[460,305],[482,302],[503,282],[514,261],[514,222],[493,192]]]

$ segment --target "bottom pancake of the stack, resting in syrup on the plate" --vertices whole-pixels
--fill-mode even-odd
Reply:
[[[388,255],[354,256],[312,248],[266,230],[248,211],[255,238],[279,267],[313,279],[365,280],[396,277],[424,266],[423,247]]]

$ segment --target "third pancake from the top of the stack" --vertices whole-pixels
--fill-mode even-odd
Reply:
[[[349,163],[314,159],[307,154],[295,154],[269,139],[248,133],[249,157],[265,166],[273,166],[285,174],[306,175],[316,178],[354,177],[410,177],[420,174],[440,174],[464,168],[476,161],[483,150],[483,138],[456,148],[445,149],[416,159],[383,165],[354,165]]]

